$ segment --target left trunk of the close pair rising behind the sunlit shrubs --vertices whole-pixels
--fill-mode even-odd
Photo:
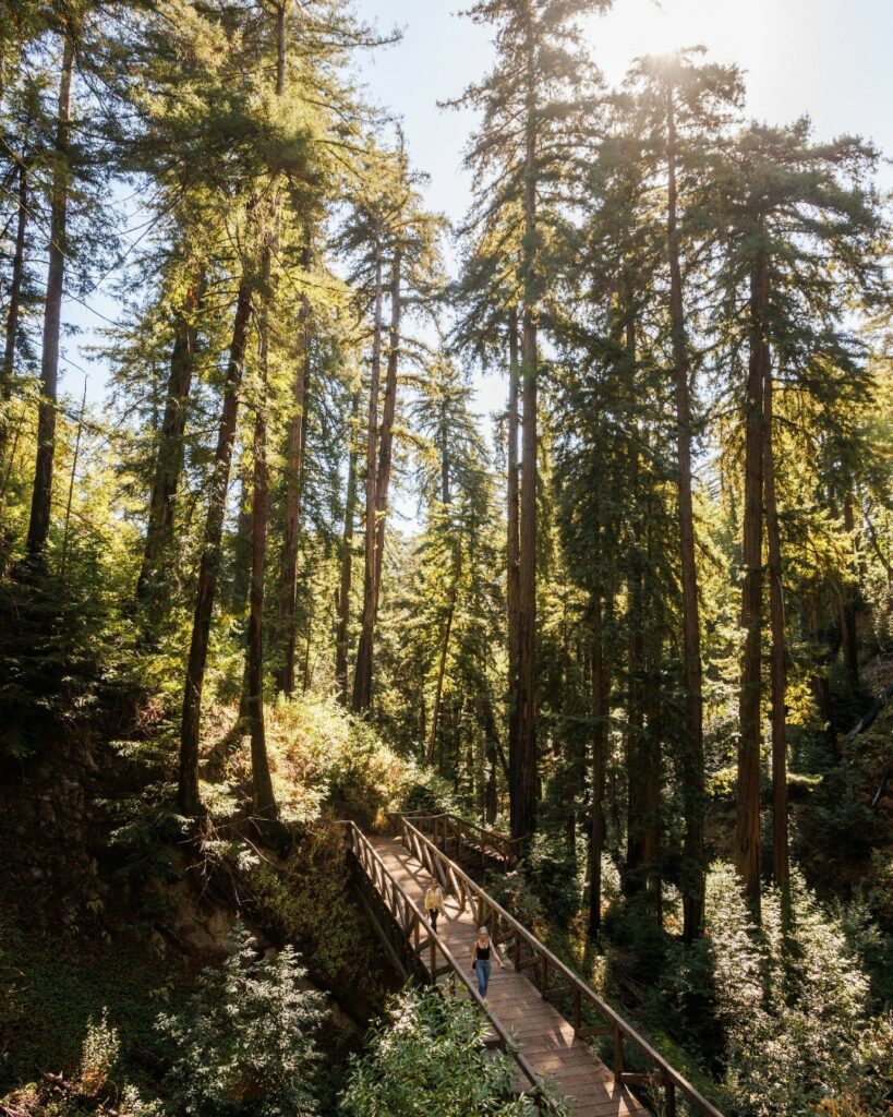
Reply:
[[[375,451],[378,446],[378,383],[382,373],[382,254],[376,246],[375,309],[369,375],[369,412],[366,427],[366,553],[363,582],[363,620],[354,669],[352,708],[364,714],[372,699],[372,641],[375,627]]]

